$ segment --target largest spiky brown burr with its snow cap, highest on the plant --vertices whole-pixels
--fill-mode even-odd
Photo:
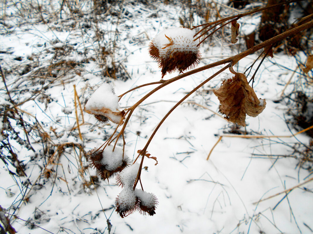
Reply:
[[[149,44],[149,54],[159,62],[162,78],[166,73],[185,71],[199,64],[200,52],[188,28],[171,28],[158,33]]]

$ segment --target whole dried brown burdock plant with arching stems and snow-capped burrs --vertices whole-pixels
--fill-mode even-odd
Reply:
[[[286,2],[279,3],[271,7],[283,4],[286,4]],[[200,59],[198,46],[203,41],[205,41],[210,35],[217,32],[220,28],[223,28],[224,26],[231,24],[232,41],[236,42],[237,41],[236,37],[238,36],[239,29],[239,24],[236,21],[241,17],[256,12],[260,12],[268,8],[269,7],[259,8],[251,12],[246,12],[236,16],[223,18],[215,22],[195,26],[192,29],[203,27],[196,34],[194,34],[192,30],[187,28],[164,30],[157,34],[156,37],[151,41],[149,45],[149,53],[154,60],[159,62],[159,66],[162,72],[162,78],[165,76],[165,74],[171,73],[173,71],[180,71],[182,73],[182,71],[185,71],[188,68],[193,68],[198,65]],[[266,102],[263,99],[258,99],[258,97],[254,93],[253,88],[249,86],[247,78],[244,74],[233,71],[232,69],[233,65],[238,63],[244,57],[264,48],[267,48],[267,51],[269,51],[266,52],[266,54],[270,54],[270,48],[272,47],[273,44],[310,27],[313,27],[313,20],[304,23],[300,26],[294,27],[286,32],[283,32],[275,37],[270,38],[269,40],[261,42],[258,45],[253,46],[248,50],[243,51],[237,55],[231,56],[220,61],[213,62],[202,67],[195,68],[192,71],[186,71],[185,73],[168,80],[160,80],[144,85],[139,85],[126,91],[125,93],[119,95],[118,97],[114,95],[112,88],[107,84],[104,89],[105,92],[104,91],[98,92],[98,90],[96,90],[97,95],[95,95],[96,97],[95,101],[91,102],[92,105],[89,105],[87,102],[85,106],[85,111],[88,112],[91,109],[95,110],[91,114],[104,116],[105,118],[108,118],[112,122],[116,123],[117,126],[114,132],[109,137],[109,139],[107,139],[106,142],[100,147],[101,149],[99,148],[95,150],[94,153],[91,153],[92,155],[90,155],[90,160],[91,158],[93,158],[93,161],[90,163],[90,165],[96,168],[97,171],[104,171],[100,174],[103,178],[109,178],[110,176],[113,175],[112,172],[115,173],[114,170],[120,170],[120,173],[118,173],[118,175],[116,176],[116,181],[123,189],[115,201],[115,204],[117,206],[116,211],[120,214],[120,216],[125,217],[136,210],[138,210],[142,214],[149,215],[155,214],[155,209],[158,202],[155,195],[153,195],[152,193],[144,192],[143,185],[141,183],[141,170],[142,168],[144,168],[143,161],[145,158],[152,158],[156,160],[155,157],[151,157],[151,154],[148,154],[147,148],[150,145],[158,129],[161,127],[161,125],[164,123],[164,121],[172,113],[173,110],[175,110],[180,104],[182,104],[190,95],[192,95],[201,87],[203,87],[203,85],[207,84],[211,79],[218,76],[223,71],[229,68],[231,72],[234,74],[233,77],[224,80],[222,86],[218,90],[214,90],[214,93],[215,95],[218,96],[218,99],[220,100],[221,103],[220,112],[226,115],[225,118],[233,123],[245,126],[246,115],[253,117],[259,115],[264,110]],[[213,30],[213,32],[206,36],[206,33],[208,33],[210,30]],[[196,37],[197,34],[199,34],[198,37]],[[198,44],[195,43],[195,41],[197,41],[203,36],[205,37]],[[122,164],[119,167],[123,168],[117,167],[115,169],[108,170],[107,165],[110,163],[108,164],[102,163],[103,158],[101,158],[100,160],[99,152],[102,151],[106,152],[107,149],[109,149],[111,153],[115,152],[115,150],[118,151],[120,150],[122,152],[122,155],[124,155],[126,145],[124,139],[125,129],[128,122],[131,119],[132,114],[135,112],[136,108],[139,105],[141,105],[147,98],[149,98],[152,94],[156,93],[158,90],[162,89],[166,85],[169,85],[177,80],[180,80],[184,77],[190,76],[197,72],[205,71],[210,68],[221,65],[224,66],[220,68],[216,73],[208,77],[206,80],[199,83],[195,88],[188,92],[181,100],[179,100],[172,107],[172,109],[167,112],[167,114],[165,114],[165,116],[161,119],[159,124],[151,133],[151,136],[148,138],[146,145],[142,149],[137,150],[138,156],[136,157],[136,159],[134,160],[133,164],[130,167],[126,167],[126,164],[123,164],[122,160]],[[150,90],[131,107],[125,109],[124,111],[118,110],[118,101],[121,100],[121,98],[123,98],[124,95],[148,85],[157,85],[157,87]],[[106,93],[110,95],[107,95]],[[105,98],[103,98],[104,96]],[[97,99],[99,99],[99,102]],[[107,100],[110,100],[109,102],[114,103],[114,106],[110,106]],[[100,121],[106,120],[104,117],[101,116],[98,116],[98,118],[100,118],[98,120]],[[121,140],[121,138],[123,140],[123,148],[117,149],[116,144],[119,140]],[[111,145],[114,146],[112,147]],[[136,163],[137,160],[139,161],[139,163]],[[103,170],[104,168],[106,170]],[[141,190],[136,189],[138,183],[140,183]]]

